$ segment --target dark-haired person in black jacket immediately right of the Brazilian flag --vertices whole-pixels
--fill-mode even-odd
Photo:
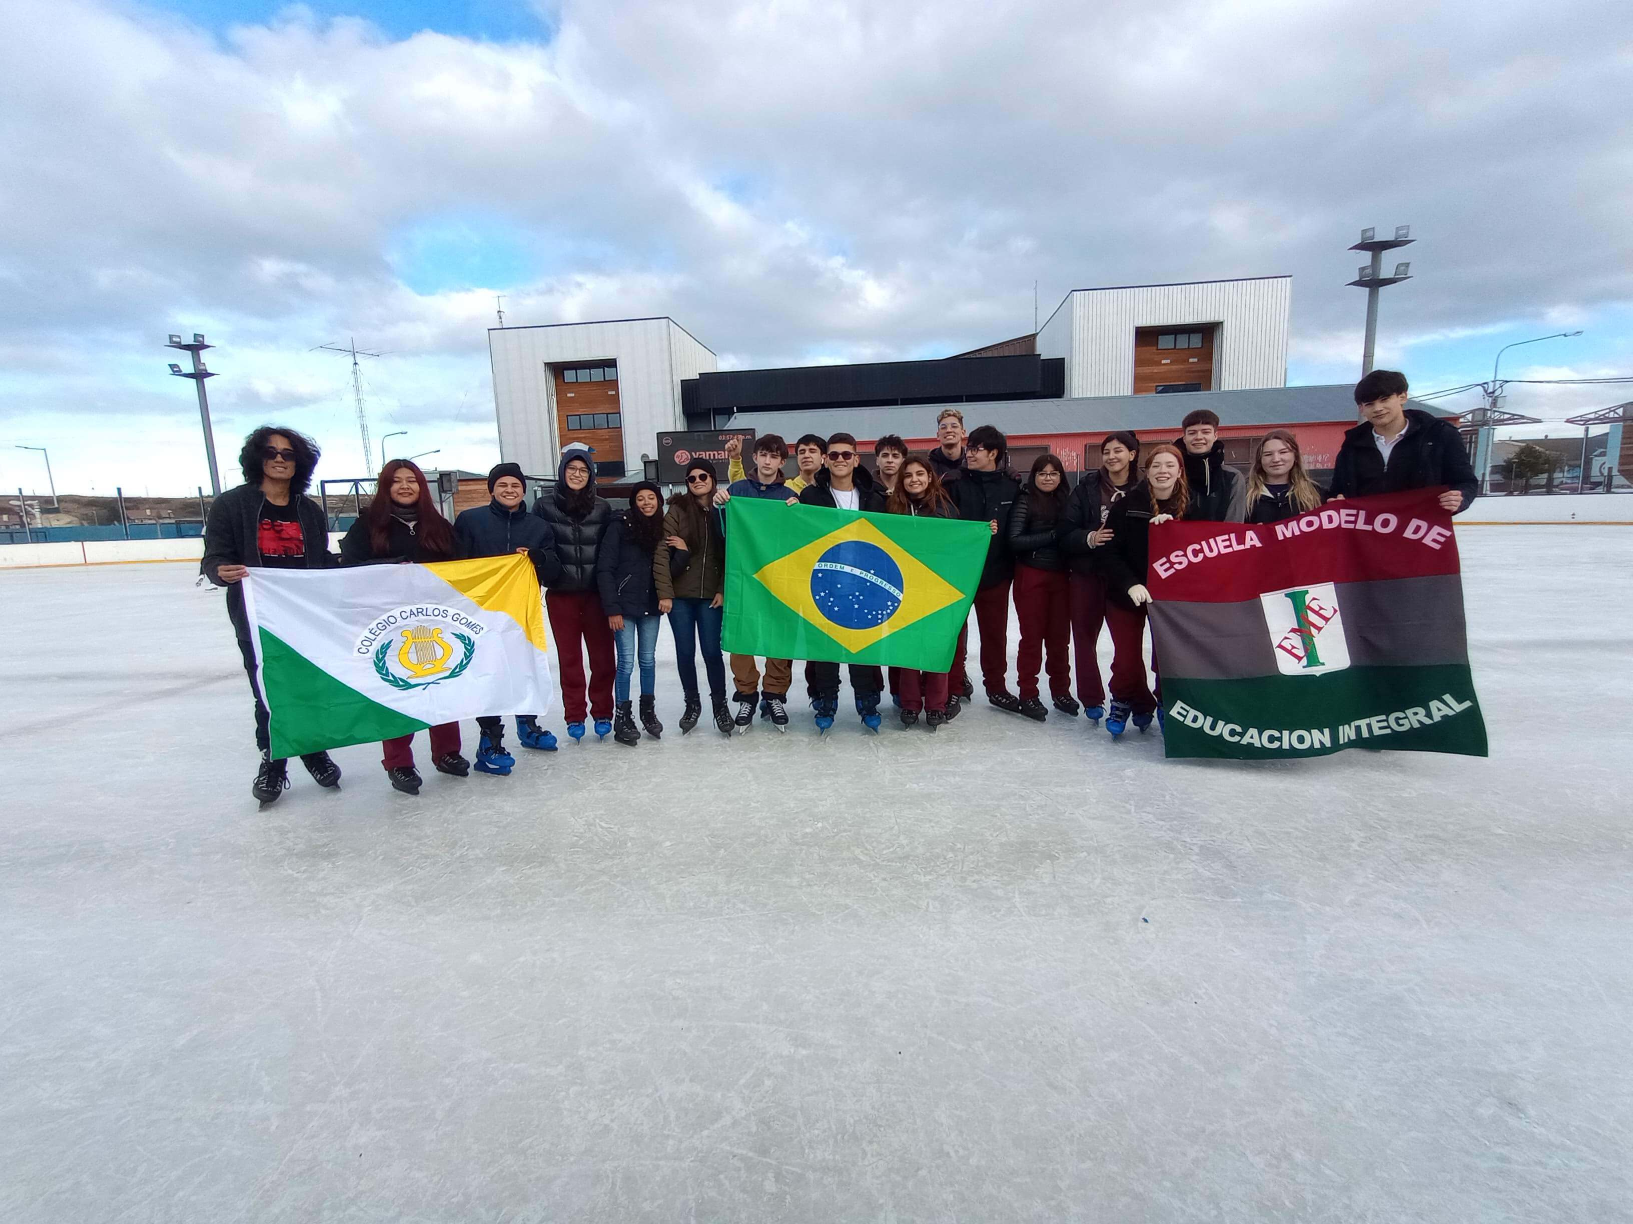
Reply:
[[[1009,583],[1014,560],[1009,555],[1009,512],[1021,481],[1006,470],[1009,442],[990,424],[977,426],[963,447],[963,472],[947,485],[947,494],[960,519],[986,522],[991,539],[986,565],[975,591],[975,623],[981,630],[981,684],[986,700],[999,710],[1021,713],[1021,698],[1008,689],[1009,674]],[[934,462],[934,455],[932,460]],[[952,656],[949,689],[968,700],[975,685],[965,672],[970,627],[959,630],[959,648]],[[954,707],[949,707],[954,708]]]

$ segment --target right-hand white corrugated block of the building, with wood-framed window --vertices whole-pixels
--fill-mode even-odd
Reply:
[[[1075,289],[1037,354],[1065,357],[1066,398],[1285,387],[1292,295],[1290,276]]]

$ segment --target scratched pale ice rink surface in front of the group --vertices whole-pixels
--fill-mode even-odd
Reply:
[[[1489,761],[683,739],[665,630],[266,813],[219,592],[0,573],[0,1221],[1626,1221],[1633,530],[1458,539]]]

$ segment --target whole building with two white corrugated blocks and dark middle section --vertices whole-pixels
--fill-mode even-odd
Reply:
[[[821,419],[839,429],[861,408],[1285,387],[1290,305],[1287,276],[1075,289],[1037,335],[932,361],[772,370],[719,370],[673,318],[490,328],[500,452],[550,477],[580,442],[619,478],[656,457],[660,436],[753,413],[833,413]]]

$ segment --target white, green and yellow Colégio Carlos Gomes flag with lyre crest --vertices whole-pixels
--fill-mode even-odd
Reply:
[[[274,757],[549,710],[526,557],[251,570],[243,597]]]

